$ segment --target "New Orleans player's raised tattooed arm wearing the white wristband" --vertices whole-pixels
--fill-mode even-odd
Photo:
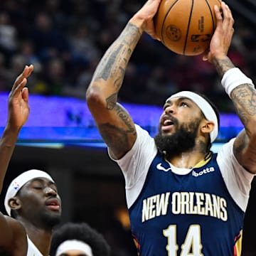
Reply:
[[[228,5],[222,2],[223,17],[215,8],[217,28],[210,43],[207,59],[215,65],[225,91],[235,105],[245,129],[240,132],[234,143],[234,154],[239,163],[256,174],[256,90],[252,80],[228,58],[228,48],[233,36],[233,16]]]

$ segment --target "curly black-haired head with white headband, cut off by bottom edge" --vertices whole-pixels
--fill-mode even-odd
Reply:
[[[110,245],[87,223],[65,223],[53,233],[51,256],[109,256]]]

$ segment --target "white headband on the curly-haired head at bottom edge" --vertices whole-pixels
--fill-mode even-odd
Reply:
[[[90,245],[87,245],[87,243],[79,240],[66,240],[62,242],[58,246],[55,256],[60,256],[63,252],[67,252],[68,250],[80,250],[85,252],[87,256],[93,256]]]

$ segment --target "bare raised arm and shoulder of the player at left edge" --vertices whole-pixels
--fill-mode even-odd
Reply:
[[[25,87],[27,78],[33,71],[33,65],[26,66],[16,78],[8,99],[8,119],[4,133],[0,140],[0,191],[3,186],[4,176],[8,168],[9,161],[14,151],[18,138],[18,133],[28,119],[28,88]],[[26,245],[26,233],[18,222],[0,213],[0,254],[10,251],[14,246],[14,237],[19,237],[19,242]]]

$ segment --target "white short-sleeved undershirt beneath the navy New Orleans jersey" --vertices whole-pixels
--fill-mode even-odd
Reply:
[[[157,154],[154,139],[149,133],[135,124],[137,130],[137,140],[132,149],[117,161],[124,174],[126,183],[127,206],[130,208],[142,191],[149,166]],[[250,183],[254,174],[246,171],[235,159],[233,154],[233,144],[235,139],[223,145],[218,152],[217,162],[220,171],[228,188],[238,206],[245,211],[249,200]],[[110,156],[111,157],[111,156]],[[174,166],[172,166],[174,172]],[[177,169],[177,174],[186,175],[191,169]]]

